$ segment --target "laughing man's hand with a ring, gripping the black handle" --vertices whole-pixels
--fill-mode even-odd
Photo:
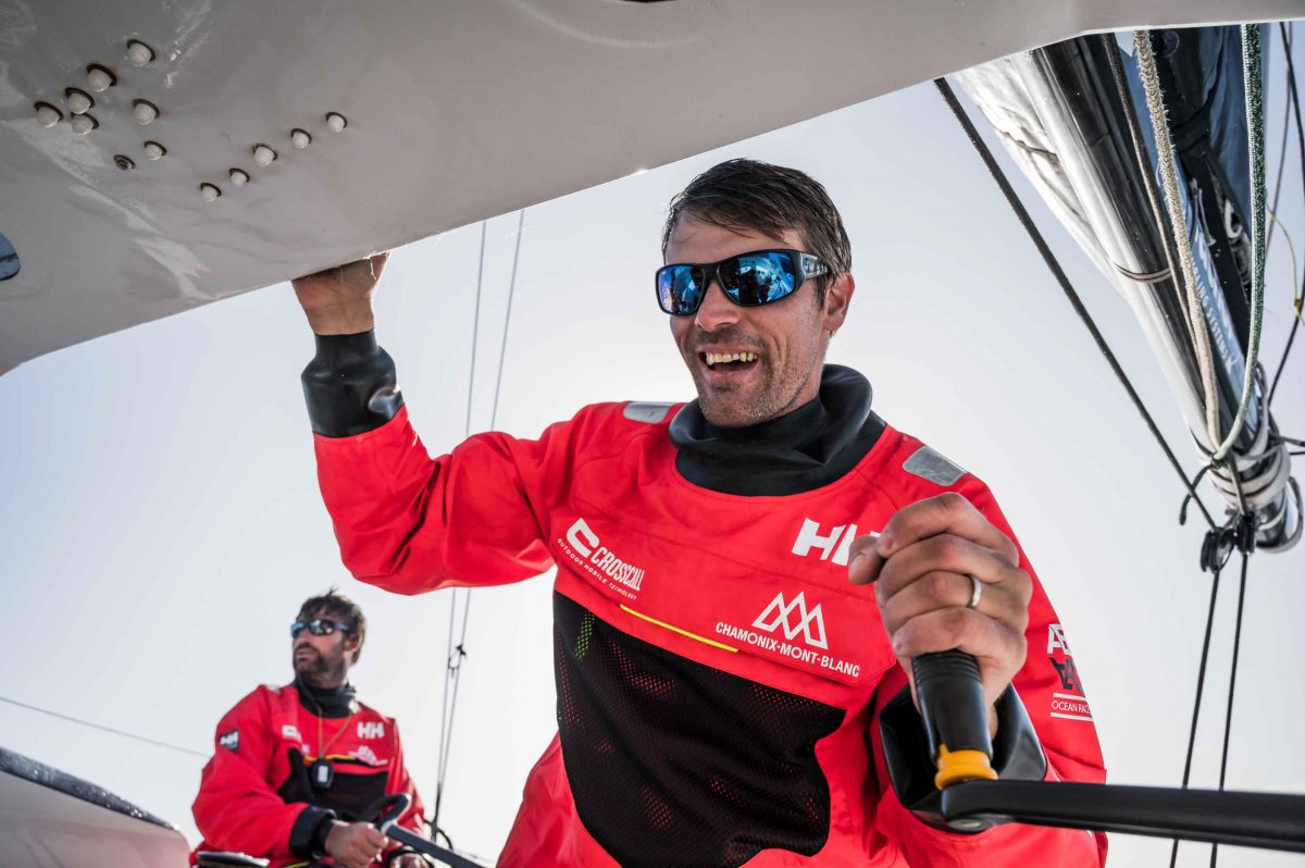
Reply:
[[[983,583],[975,608],[968,607],[971,576]],[[912,696],[912,658],[954,647],[974,655],[994,731],[997,697],[1024,664],[1034,593],[1010,538],[963,496],[947,492],[898,510],[878,538],[853,540],[848,578],[876,583],[880,615]]]

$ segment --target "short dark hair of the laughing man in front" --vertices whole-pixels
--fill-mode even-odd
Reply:
[[[702,172],[671,200],[662,228],[662,258],[680,218],[689,215],[727,230],[779,236],[801,232],[806,253],[830,273],[818,278],[816,303],[825,305],[830,282],[852,270],[852,243],[825,187],[806,172],[756,159],[728,159]]]

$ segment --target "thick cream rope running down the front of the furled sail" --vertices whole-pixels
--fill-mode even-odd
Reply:
[[[1169,231],[1178,248],[1180,287],[1188,302],[1188,330],[1195,347],[1197,368],[1201,372],[1201,389],[1206,397],[1206,435],[1211,444],[1219,442],[1219,392],[1215,388],[1214,355],[1210,351],[1210,329],[1206,326],[1205,311],[1197,298],[1197,264],[1191,256],[1191,235],[1188,217],[1182,210],[1178,189],[1178,170],[1173,154],[1173,138],[1169,134],[1169,121],[1164,110],[1164,97],[1160,94],[1160,73],[1155,65],[1155,48],[1151,46],[1151,33],[1133,31],[1134,56],[1142,76],[1142,89],[1146,93],[1147,115],[1155,138],[1159,158],[1160,180],[1164,189],[1164,204],[1169,217]]]

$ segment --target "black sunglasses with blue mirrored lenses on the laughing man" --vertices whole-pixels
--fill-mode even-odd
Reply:
[[[801,251],[750,251],[719,262],[663,265],[656,270],[656,302],[663,313],[689,316],[707,295],[713,278],[740,307],[758,307],[788,298],[809,277],[829,266]]]

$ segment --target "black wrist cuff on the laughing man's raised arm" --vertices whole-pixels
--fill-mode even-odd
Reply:
[[[375,332],[318,334],[317,355],[304,368],[304,401],[313,431],[350,437],[380,428],[403,406],[394,359]]]

